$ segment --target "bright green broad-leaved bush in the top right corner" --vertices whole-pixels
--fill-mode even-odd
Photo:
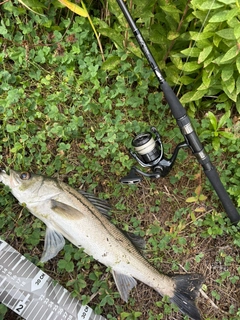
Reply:
[[[189,28],[187,34],[193,43],[181,50],[187,62],[179,69],[192,78],[192,86],[182,95],[181,101],[186,105],[194,102],[195,108],[191,104],[191,111],[195,111],[202,106],[205,96],[217,98],[221,95],[221,99],[224,97],[235,103],[239,111],[240,8],[235,1],[227,0],[193,0],[191,8],[201,30],[196,32]]]

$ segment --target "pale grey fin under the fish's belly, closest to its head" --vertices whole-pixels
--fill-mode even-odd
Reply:
[[[40,261],[46,262],[55,257],[58,252],[62,250],[64,245],[65,240],[61,233],[56,232],[48,226],[45,234],[43,254]]]

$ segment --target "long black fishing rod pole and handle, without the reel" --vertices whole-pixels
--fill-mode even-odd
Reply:
[[[198,162],[202,165],[203,170],[209,179],[210,183],[212,184],[214,190],[216,191],[222,205],[231,220],[232,223],[238,223],[240,221],[240,215],[234,206],[232,200],[230,199],[226,189],[224,188],[220,177],[217,173],[216,168],[213,166],[209,156],[206,154],[196,132],[194,131],[190,119],[186,115],[186,111],[182,106],[181,102],[174,94],[172,88],[168,85],[165,81],[154,57],[152,56],[146,42],[144,41],[140,31],[138,30],[135,22],[133,21],[128,9],[126,8],[123,0],[117,0],[117,3],[122,10],[130,28],[134,36],[136,37],[138,44],[144,53],[146,59],[148,60],[153,72],[155,73],[160,87],[165,95],[165,98],[168,102],[168,105],[172,111],[174,118],[177,121],[177,124],[188,143],[188,146],[192,150],[193,155],[197,158]]]

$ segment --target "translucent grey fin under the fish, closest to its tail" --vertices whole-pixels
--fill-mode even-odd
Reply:
[[[132,276],[114,270],[112,271],[112,274],[121,298],[127,302],[129,292],[137,285],[137,281]]]

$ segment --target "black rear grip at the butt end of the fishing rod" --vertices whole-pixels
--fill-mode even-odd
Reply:
[[[215,189],[220,201],[222,202],[229,219],[232,223],[237,224],[240,221],[240,215],[230,199],[227,191],[225,190],[216,168],[212,167],[211,170],[204,170],[204,172]]]

